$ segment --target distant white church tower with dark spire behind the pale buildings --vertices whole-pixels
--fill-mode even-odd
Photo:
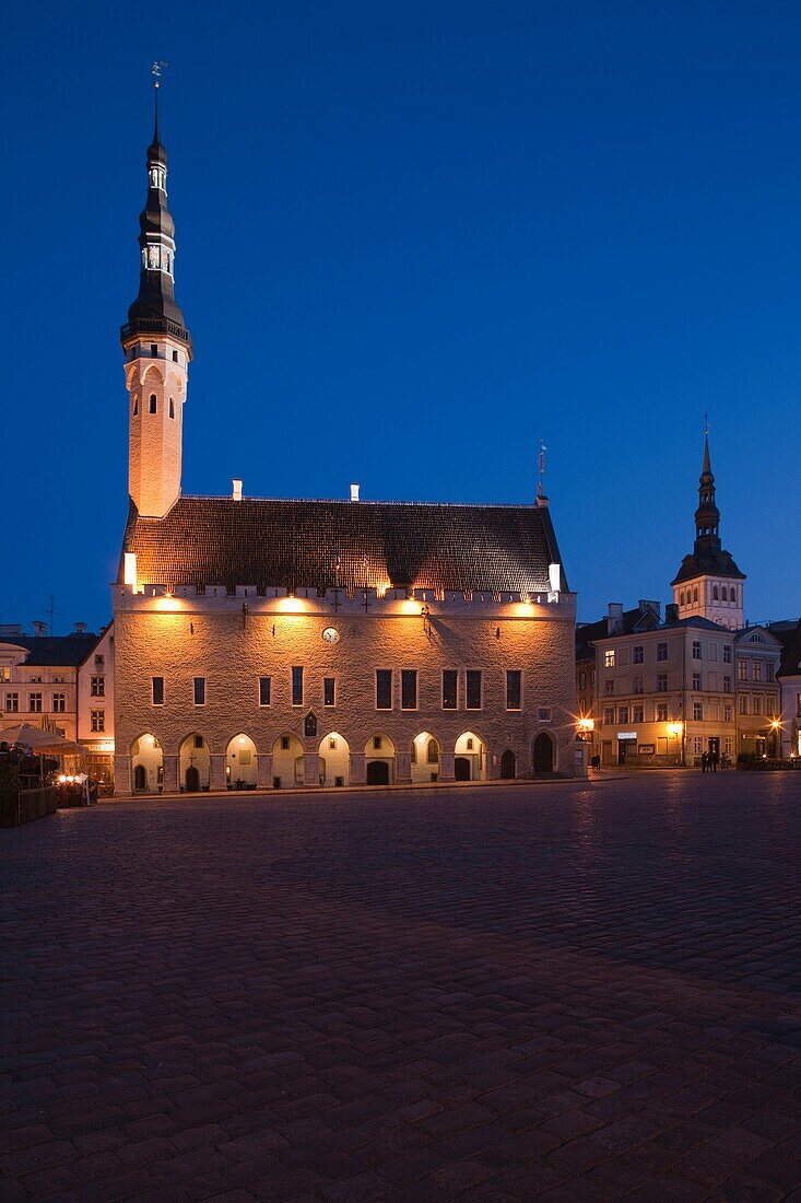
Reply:
[[[710,462],[710,435],[704,437],[704,464],[695,511],[695,545],[684,556],[671,581],[680,618],[708,618],[722,627],[740,630],[744,626],[743,581],[731,553],[720,546],[720,511],[714,500],[714,476]]]

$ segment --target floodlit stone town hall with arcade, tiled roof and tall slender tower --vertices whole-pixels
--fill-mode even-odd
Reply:
[[[158,109],[147,173],[120,331],[117,792],[571,774],[575,594],[541,491],[530,505],[182,493],[192,343]]]

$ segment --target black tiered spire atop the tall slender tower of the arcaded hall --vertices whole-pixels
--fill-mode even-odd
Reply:
[[[147,152],[148,197],[140,214],[142,251],[140,292],[120,331],[125,345],[140,336],[170,333],[186,344],[191,338],[174,294],[176,224],[167,208],[167,152],[159,135],[159,90],[155,85],[153,142]]]

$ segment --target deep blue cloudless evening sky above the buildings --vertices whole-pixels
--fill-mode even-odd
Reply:
[[[750,620],[796,616],[795,2],[14,6],[0,621],[109,616],[154,58],[184,491],[527,502],[580,617],[669,600],[704,411]]]

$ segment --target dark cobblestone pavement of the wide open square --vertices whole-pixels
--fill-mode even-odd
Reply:
[[[801,774],[0,832],[0,1197],[801,1198]]]

